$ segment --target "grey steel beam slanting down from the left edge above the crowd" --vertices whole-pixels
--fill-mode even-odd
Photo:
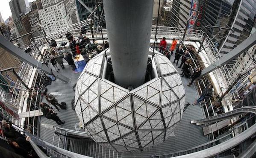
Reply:
[[[19,49],[15,45],[13,45],[11,42],[9,42],[6,38],[4,38],[2,35],[0,35],[0,47],[5,49],[7,52],[11,53],[12,55],[18,57],[18,59],[21,59],[22,61],[25,61],[26,63],[32,65],[35,68],[41,69],[47,74],[53,73],[53,75],[57,78],[62,80],[63,82],[69,82],[69,79],[65,76],[62,76],[60,73],[57,73],[54,70],[51,70],[50,67],[47,67],[46,65],[42,64],[40,61],[35,60],[28,54],[24,52],[24,50]]]

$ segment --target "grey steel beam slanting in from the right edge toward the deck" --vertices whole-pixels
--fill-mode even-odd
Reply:
[[[248,50],[254,44],[256,44],[256,32],[254,32],[246,40],[244,40],[241,44],[239,44],[237,47],[235,47],[233,50],[231,50],[230,53],[228,53],[226,56],[219,59],[219,61],[216,61],[215,63],[211,64],[209,67],[206,67],[205,69],[203,69],[201,76],[204,76],[204,75],[212,72],[213,70],[216,70],[217,68],[223,66],[224,64],[227,64],[232,59],[236,59],[239,55],[244,53],[246,50]]]

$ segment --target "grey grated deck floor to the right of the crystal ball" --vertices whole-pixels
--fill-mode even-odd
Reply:
[[[171,62],[174,61],[174,54],[171,56]],[[179,73],[182,73],[181,68],[178,68],[181,61],[178,65],[174,64],[174,67],[178,70]],[[182,77],[182,83],[185,88],[185,103],[193,103],[197,99],[197,91],[194,86],[188,87],[190,80]],[[191,120],[199,120],[204,118],[203,111],[199,105],[189,106],[182,115],[182,120],[179,122],[177,127],[174,130],[175,135],[170,137],[168,140],[165,140],[164,143],[161,143],[158,146],[154,146],[149,151],[144,151],[140,153],[123,153],[123,158],[130,157],[152,157],[153,155],[164,155],[168,153],[177,152],[179,150],[185,150],[192,148],[194,146],[206,143],[208,138],[203,135],[202,126],[196,126],[191,124]]]

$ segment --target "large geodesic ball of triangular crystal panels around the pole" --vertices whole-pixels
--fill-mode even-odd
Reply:
[[[132,91],[102,78],[104,62],[100,53],[77,80],[75,110],[85,132],[118,152],[151,147],[170,137],[185,103],[184,87],[171,62],[156,53],[158,76]]]

